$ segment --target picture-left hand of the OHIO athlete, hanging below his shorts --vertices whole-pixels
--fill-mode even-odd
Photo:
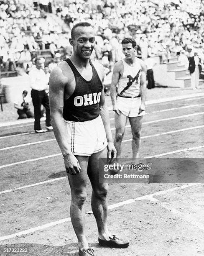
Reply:
[[[72,175],[78,174],[81,170],[79,161],[76,159],[76,157],[73,154],[64,156],[64,165],[66,168],[66,172]]]

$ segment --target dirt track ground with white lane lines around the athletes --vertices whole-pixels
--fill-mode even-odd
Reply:
[[[148,105],[140,157],[202,159],[203,99]],[[114,135],[113,119],[110,111]],[[33,133],[33,123],[0,130],[0,255],[18,255],[9,253],[9,248],[24,248],[27,252],[22,255],[77,256],[69,218],[70,189],[54,134]],[[127,123],[122,156],[130,155]],[[110,184],[110,232],[130,239],[128,248],[112,249],[97,243],[88,182],[85,211],[89,246],[96,256],[204,256],[204,184],[200,183]]]

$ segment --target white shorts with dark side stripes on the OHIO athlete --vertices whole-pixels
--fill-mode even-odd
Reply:
[[[68,143],[76,156],[91,156],[107,147],[105,128],[99,115],[85,122],[66,121]]]

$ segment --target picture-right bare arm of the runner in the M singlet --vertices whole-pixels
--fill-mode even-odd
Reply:
[[[145,100],[146,100],[146,92],[147,92],[147,86],[146,86],[146,66],[143,61],[141,61],[141,77],[140,77],[140,96],[141,96],[141,105],[139,109],[139,114],[145,110]]]

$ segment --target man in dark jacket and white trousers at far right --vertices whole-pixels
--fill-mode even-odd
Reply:
[[[201,59],[198,56],[198,50],[194,49],[194,56],[189,58],[189,71],[191,74],[191,87],[193,90],[198,89],[201,70]]]

